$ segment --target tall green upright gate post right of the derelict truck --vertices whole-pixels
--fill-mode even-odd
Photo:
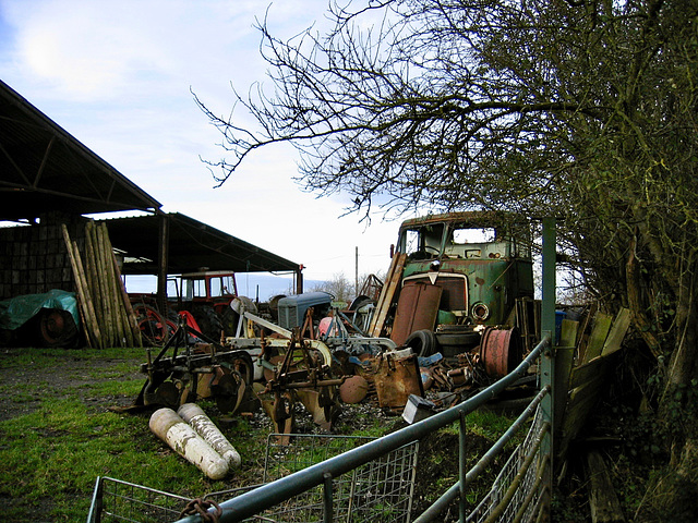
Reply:
[[[554,396],[557,393],[553,389],[554,368],[555,368],[555,218],[543,218],[543,289],[542,289],[542,309],[541,309],[541,330],[543,336],[550,336],[550,346],[547,346],[541,355],[541,388],[549,385],[551,392],[545,396],[541,402],[542,422],[550,423],[551,429],[545,433],[541,442],[541,460],[550,460],[547,466],[544,463],[539,464],[542,471],[542,494],[541,503],[544,510],[550,510],[550,497],[552,495],[552,470],[553,470],[553,405]]]

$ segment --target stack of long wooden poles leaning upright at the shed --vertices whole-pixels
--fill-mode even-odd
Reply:
[[[86,223],[83,254],[71,240],[65,224],[63,239],[73,268],[87,344],[98,349],[143,346],[106,223]]]

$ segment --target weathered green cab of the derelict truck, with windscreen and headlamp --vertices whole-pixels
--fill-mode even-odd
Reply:
[[[515,301],[533,297],[530,227],[495,212],[449,212],[405,221],[397,252],[401,287],[442,289],[440,317],[457,325],[503,325]]]

